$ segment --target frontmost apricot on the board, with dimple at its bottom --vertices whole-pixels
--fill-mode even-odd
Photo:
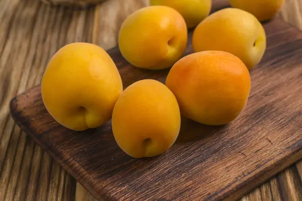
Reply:
[[[152,157],[166,152],[174,144],[179,130],[176,97],[159,81],[145,79],[131,84],[114,106],[114,138],[132,157]]]

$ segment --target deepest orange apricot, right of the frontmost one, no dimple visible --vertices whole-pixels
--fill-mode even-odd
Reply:
[[[245,108],[251,80],[238,57],[204,51],[176,62],[166,85],[175,94],[184,116],[206,125],[223,125],[235,120]]]

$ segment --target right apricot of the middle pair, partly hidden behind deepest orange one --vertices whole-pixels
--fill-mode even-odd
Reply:
[[[264,55],[266,34],[255,16],[227,8],[199,23],[193,33],[192,45],[195,52],[217,50],[234,54],[251,70]]]

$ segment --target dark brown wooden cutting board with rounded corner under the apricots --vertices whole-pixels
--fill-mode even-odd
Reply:
[[[264,27],[267,50],[250,72],[241,116],[216,127],[182,118],[176,143],[158,157],[127,156],[111,122],[84,132],[60,126],[47,113],[40,86],[12,99],[12,116],[100,200],[234,200],[302,158],[302,33],[280,19]],[[108,52],[124,87],[144,78],[164,82],[169,72],[135,68],[118,48]]]

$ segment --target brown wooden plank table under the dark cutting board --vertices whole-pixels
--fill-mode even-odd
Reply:
[[[123,19],[146,2],[110,0],[79,10],[0,0],[0,200],[95,199],[15,125],[9,102],[40,83],[49,58],[64,44],[115,46]],[[279,15],[302,30],[302,1],[286,0]],[[301,178],[298,162],[241,200],[302,200]]]

